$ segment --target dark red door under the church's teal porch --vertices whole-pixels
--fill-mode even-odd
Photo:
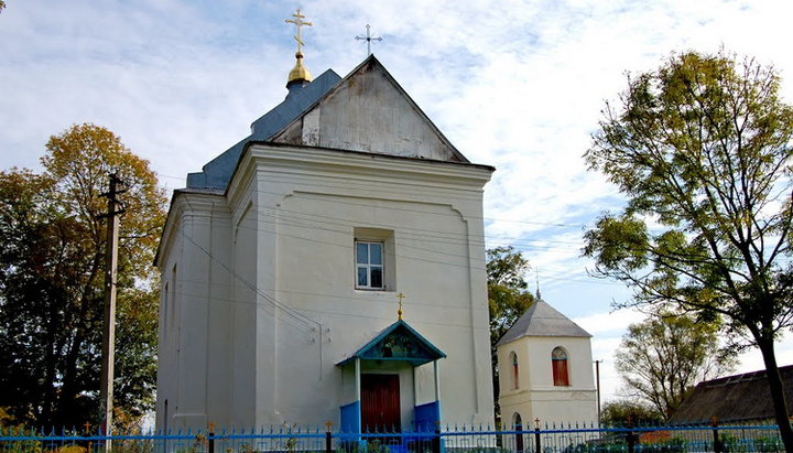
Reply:
[[[363,432],[400,432],[399,375],[361,375]]]

